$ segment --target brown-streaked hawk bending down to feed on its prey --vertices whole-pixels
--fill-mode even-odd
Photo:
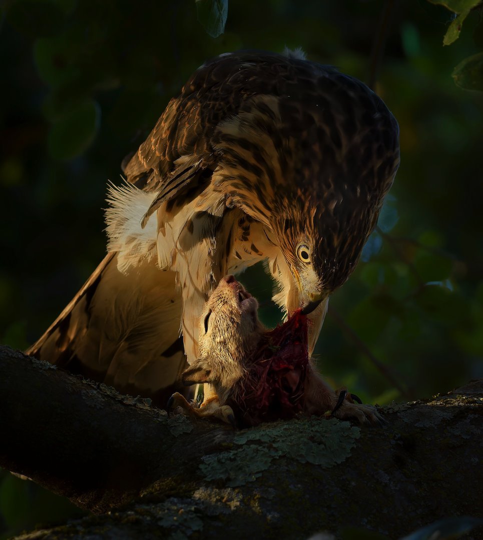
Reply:
[[[311,351],[398,165],[398,124],[359,80],[298,52],[210,60],[111,186],[108,255],[28,352],[164,400],[210,293],[259,261],[309,313]]]

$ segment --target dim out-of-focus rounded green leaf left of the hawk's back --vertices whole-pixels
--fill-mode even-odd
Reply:
[[[79,104],[49,133],[49,150],[57,159],[72,159],[82,154],[92,143],[99,129],[100,107],[93,100]]]

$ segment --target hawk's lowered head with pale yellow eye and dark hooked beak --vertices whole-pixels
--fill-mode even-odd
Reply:
[[[382,203],[367,190],[359,196],[290,198],[290,212],[274,216],[272,230],[310,313],[344,284],[360,258]],[[368,200],[369,199],[369,200]]]

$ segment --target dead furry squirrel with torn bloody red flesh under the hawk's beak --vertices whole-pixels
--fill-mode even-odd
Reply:
[[[313,368],[304,314],[268,330],[257,311],[257,300],[232,275],[219,282],[200,321],[200,356],[182,374],[184,384],[210,383],[216,395],[197,408],[175,393],[168,410],[238,427],[313,414],[380,423],[374,407],[335,392]]]

